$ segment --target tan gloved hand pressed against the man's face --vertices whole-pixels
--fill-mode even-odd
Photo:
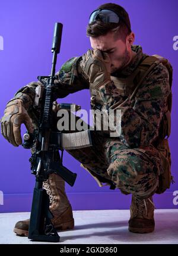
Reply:
[[[85,79],[93,83],[95,88],[100,88],[110,82],[110,58],[106,52],[98,49],[88,50],[82,55],[81,61],[82,72]]]

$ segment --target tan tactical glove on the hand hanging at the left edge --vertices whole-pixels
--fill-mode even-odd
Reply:
[[[1,133],[9,143],[19,146],[21,139],[21,124],[24,123],[28,132],[33,133],[33,124],[24,108],[21,99],[12,99],[8,102],[4,111],[4,117],[1,118]]]

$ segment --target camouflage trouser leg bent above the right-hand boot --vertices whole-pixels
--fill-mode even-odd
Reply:
[[[122,193],[147,198],[157,189],[161,160],[152,145],[131,149],[94,131],[93,146],[66,151],[97,176],[112,180]]]

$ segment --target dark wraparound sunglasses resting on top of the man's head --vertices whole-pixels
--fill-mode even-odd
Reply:
[[[96,20],[102,20],[104,23],[119,23],[119,21],[122,20],[128,27],[129,32],[131,32],[131,28],[126,24],[125,20],[114,11],[106,9],[94,10],[93,13],[90,14],[89,24]]]

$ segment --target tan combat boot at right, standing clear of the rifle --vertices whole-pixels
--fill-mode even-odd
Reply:
[[[129,231],[134,233],[150,233],[154,231],[154,208],[152,196],[142,199],[141,196],[132,195]]]

